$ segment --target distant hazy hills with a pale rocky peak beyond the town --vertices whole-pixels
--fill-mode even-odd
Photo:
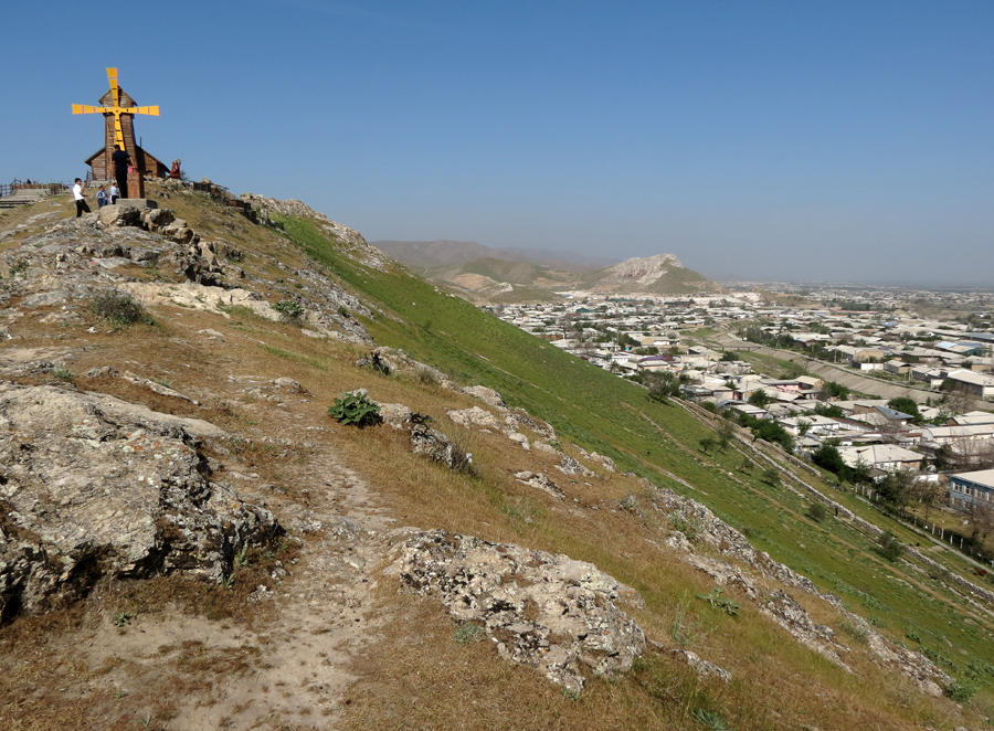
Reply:
[[[493,248],[475,241],[374,241],[391,258],[476,303],[559,299],[556,292],[676,295],[720,292],[673,254],[603,257],[542,248]]]

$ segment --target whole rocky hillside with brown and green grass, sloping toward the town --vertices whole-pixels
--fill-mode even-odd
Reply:
[[[0,216],[0,728],[994,714],[953,552],[298,201],[150,188]],[[382,422],[329,415],[356,389]]]

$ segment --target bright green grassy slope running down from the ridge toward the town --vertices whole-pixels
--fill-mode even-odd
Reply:
[[[639,386],[400,267],[381,272],[356,263],[309,221],[287,219],[285,225],[287,235],[309,256],[380,304],[387,316],[364,321],[379,343],[403,349],[462,382],[494,388],[509,405],[526,409],[585,448],[612,457],[621,469],[706,504],[727,522],[747,529],[757,548],[807,575],[823,591],[838,594],[892,639],[921,648],[950,675],[965,677],[971,664],[974,669],[994,664],[990,623],[964,621],[962,600],[950,596],[927,574],[878,558],[871,541],[852,526],[813,522],[804,516],[805,498],[784,486],[761,483],[762,466],[741,472],[743,454],[736,449],[701,454],[698,442],[710,432],[684,409],[651,402]],[[924,543],[900,526],[887,525],[854,496],[834,492],[810,475],[804,479],[890,528],[902,541]],[[987,689],[975,702],[994,714]]]

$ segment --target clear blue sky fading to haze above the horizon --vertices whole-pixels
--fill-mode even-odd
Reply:
[[[368,240],[994,284],[994,2],[4,3],[0,181],[145,147]]]

